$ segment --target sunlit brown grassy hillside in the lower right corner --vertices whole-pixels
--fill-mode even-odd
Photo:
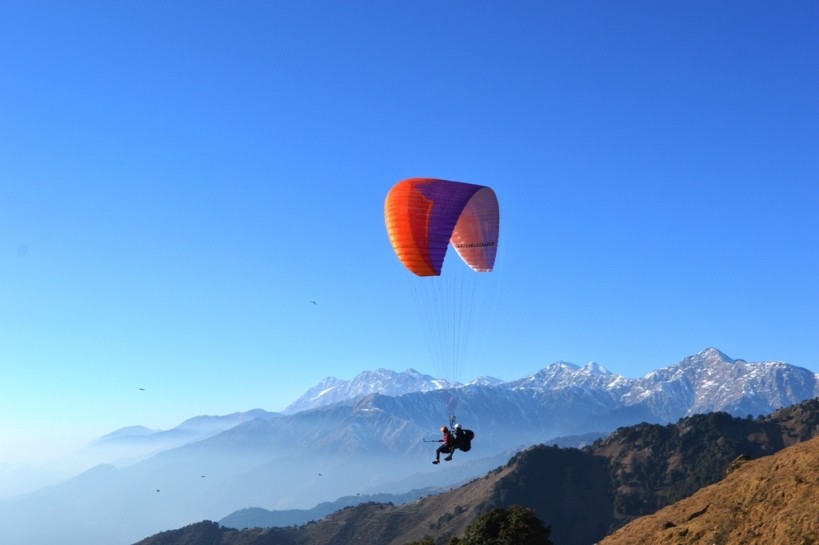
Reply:
[[[819,544],[819,438],[737,464],[722,481],[599,545]]]

